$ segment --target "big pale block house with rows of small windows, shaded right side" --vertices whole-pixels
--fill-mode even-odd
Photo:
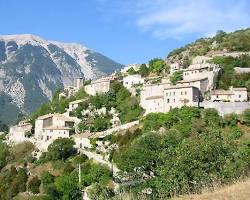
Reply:
[[[201,92],[194,86],[171,86],[164,90],[164,112],[182,106],[198,106],[202,101]]]

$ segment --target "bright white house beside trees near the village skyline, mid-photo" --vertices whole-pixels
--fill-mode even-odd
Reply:
[[[123,78],[123,86],[126,87],[131,93],[135,92],[135,85],[144,84],[144,78],[140,74],[128,75]]]

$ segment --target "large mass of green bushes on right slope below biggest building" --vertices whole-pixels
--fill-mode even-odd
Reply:
[[[136,193],[151,188],[149,198],[164,199],[247,175],[250,141],[239,140],[238,122],[249,125],[249,114],[221,118],[216,110],[188,107],[149,114],[143,133],[114,153],[117,166],[134,180],[125,188]]]

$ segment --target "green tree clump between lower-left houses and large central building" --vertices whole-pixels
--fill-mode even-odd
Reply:
[[[110,114],[90,116],[82,113],[82,111],[86,109],[93,111],[101,108],[106,108],[107,111],[110,111],[111,108],[115,108],[119,113],[118,116],[122,123],[138,119],[143,111],[139,106],[138,97],[131,96],[130,92],[122,83],[114,81],[111,83],[109,92],[89,97],[72,113],[73,116],[82,119],[79,125],[80,131],[103,131],[111,127]]]

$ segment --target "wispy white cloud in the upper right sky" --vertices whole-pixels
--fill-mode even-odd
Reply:
[[[138,1],[136,25],[158,38],[182,38],[189,34],[208,36],[217,30],[233,31],[250,25],[244,0]],[[151,3],[150,3],[151,2]]]

